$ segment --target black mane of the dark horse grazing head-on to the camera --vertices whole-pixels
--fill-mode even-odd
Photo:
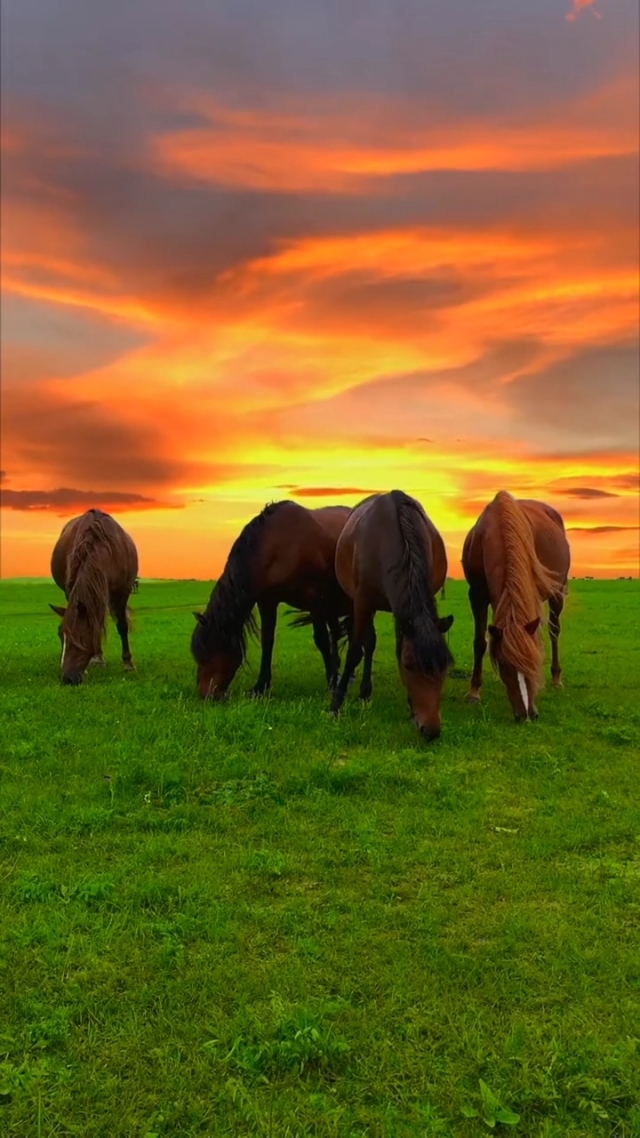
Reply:
[[[402,636],[413,644],[416,662],[422,673],[444,676],[453,663],[453,657],[440,632],[437,608],[432,593],[430,546],[425,551],[425,516],[415,498],[402,490],[392,490],[400,534],[402,537],[402,560],[397,576],[404,584],[404,604],[394,613],[396,641],[400,650]]]

